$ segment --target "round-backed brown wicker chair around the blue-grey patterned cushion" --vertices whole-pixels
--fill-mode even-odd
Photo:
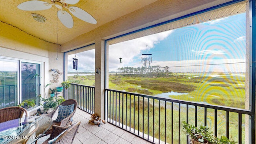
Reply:
[[[76,108],[77,108],[77,101],[74,100],[74,99],[68,99],[68,100],[65,100],[64,102],[62,102],[60,105],[62,106],[67,106],[67,105],[70,105],[70,104],[74,104],[74,110],[73,112],[66,118],[64,118],[63,120],[61,120],[60,122],[57,122],[56,120],[54,120],[52,122],[52,126],[53,125],[57,125],[57,126],[62,126],[62,127],[66,127],[66,126],[69,126],[69,125],[72,125],[72,121],[71,121],[71,118],[74,116],[75,112],[76,112]],[[59,106],[60,106],[59,105]],[[50,118],[53,117],[53,115],[55,114],[55,112],[57,111],[58,107],[57,106],[52,112],[46,114],[46,116],[49,116]],[[52,127],[49,128],[49,130],[45,133],[46,135],[48,134],[51,134],[52,133]]]

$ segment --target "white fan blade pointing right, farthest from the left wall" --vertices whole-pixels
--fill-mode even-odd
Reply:
[[[92,17],[88,12],[82,10],[81,8],[78,8],[76,6],[70,6],[68,10],[77,18],[89,22],[91,24],[97,24],[97,21],[95,20],[94,17]]]

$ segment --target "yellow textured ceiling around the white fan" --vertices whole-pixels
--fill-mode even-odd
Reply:
[[[57,43],[58,24],[58,44],[63,44],[157,0],[80,0],[70,6],[82,8],[97,20],[97,24],[84,22],[71,14],[74,20],[73,28],[66,28],[60,20],[57,20],[55,6],[40,11],[23,11],[17,8],[18,4],[26,1],[28,0],[0,0],[0,21],[52,43]],[[50,0],[42,1],[51,3]],[[32,13],[44,16],[46,22],[35,21],[31,16]]]

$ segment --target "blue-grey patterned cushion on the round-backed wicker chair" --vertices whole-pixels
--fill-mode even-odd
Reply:
[[[72,112],[74,111],[74,104],[70,104],[67,106],[59,106],[59,112],[57,119],[55,120],[56,122],[60,122],[64,118],[68,117]]]

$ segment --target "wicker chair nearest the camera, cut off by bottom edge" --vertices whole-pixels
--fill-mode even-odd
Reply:
[[[44,141],[42,144],[48,144],[49,140],[54,140],[52,144],[72,144],[73,140],[76,136],[77,130],[80,126],[81,122],[76,122],[70,127],[61,127],[61,126],[52,126],[52,133],[50,135],[50,138],[48,138],[46,141]],[[66,130],[66,131],[65,131]],[[62,133],[63,132],[63,133]]]

